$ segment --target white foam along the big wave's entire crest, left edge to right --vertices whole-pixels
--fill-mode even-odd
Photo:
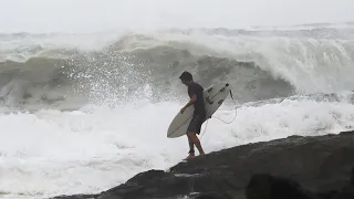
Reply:
[[[325,33],[325,32],[324,32]],[[132,35],[132,34],[129,34]],[[186,35],[169,32],[150,32],[154,40],[133,40],[124,50],[132,46],[153,48],[175,41],[176,48],[187,49],[194,54],[210,54],[237,61],[254,62],[257,66],[269,72],[274,78],[282,78],[296,87],[299,93],[331,93],[353,90],[354,48],[352,39],[314,39],[311,36],[273,36],[273,35],[220,35],[195,31]],[[119,41],[121,34],[53,34],[40,38],[28,35],[24,39],[0,40],[0,56],[25,61],[33,56],[21,48],[40,45],[35,53],[51,54],[51,49],[98,50]],[[98,38],[98,40],[97,40]],[[6,43],[6,45],[2,45]],[[3,48],[3,50],[2,50]],[[9,48],[9,49],[7,49]],[[18,49],[20,48],[20,49]],[[31,48],[30,48],[31,49]],[[3,54],[2,54],[3,53]],[[35,54],[34,53],[34,54]],[[60,53],[58,53],[60,54]],[[65,53],[64,53],[65,54]],[[21,57],[17,57],[17,56]],[[56,55],[55,53],[52,54]]]

